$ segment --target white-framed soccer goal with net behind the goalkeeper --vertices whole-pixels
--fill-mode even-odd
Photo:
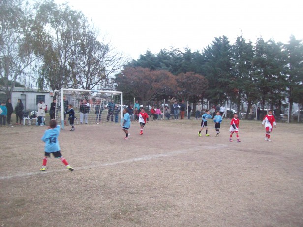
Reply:
[[[75,112],[74,124],[96,125],[121,123],[123,93],[119,91],[61,89],[55,90],[55,119],[61,127],[68,125],[68,105]]]

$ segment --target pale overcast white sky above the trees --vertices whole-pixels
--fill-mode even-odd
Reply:
[[[214,37],[288,43],[303,39],[303,1],[298,0],[55,0],[69,2],[125,55],[188,46],[202,50]]]

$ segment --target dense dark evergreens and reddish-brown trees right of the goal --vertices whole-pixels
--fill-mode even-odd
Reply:
[[[288,102],[292,107],[303,104],[303,44],[294,36],[287,44],[262,37],[253,44],[241,35],[233,44],[216,37],[202,51],[146,51],[125,65],[115,82],[126,99],[175,95],[195,103],[200,95],[214,104],[231,101],[238,112],[241,103],[247,110],[257,102],[262,109]]]

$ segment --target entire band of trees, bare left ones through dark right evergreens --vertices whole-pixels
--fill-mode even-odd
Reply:
[[[253,44],[242,35],[230,43],[222,36],[200,51],[147,51],[129,61],[68,4],[1,0],[0,88],[9,98],[29,78],[39,89],[116,89],[125,99],[203,97],[230,100],[238,111],[244,102],[248,109],[256,102],[292,107],[303,104],[303,45],[294,36],[287,44],[262,37]]]

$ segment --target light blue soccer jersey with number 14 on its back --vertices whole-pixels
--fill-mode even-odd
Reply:
[[[47,153],[53,153],[60,151],[58,136],[60,133],[60,125],[57,125],[56,128],[48,129],[44,132],[42,141],[45,142],[44,151]]]

